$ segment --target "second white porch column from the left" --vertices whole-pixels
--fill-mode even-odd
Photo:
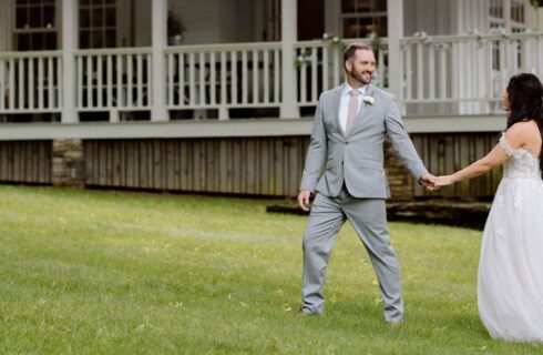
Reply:
[[[166,64],[163,50],[167,45],[167,0],[152,0],[152,111],[151,121],[167,121],[166,111]]]

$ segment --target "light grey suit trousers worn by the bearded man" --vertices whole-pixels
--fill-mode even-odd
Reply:
[[[317,194],[314,200],[303,242],[303,312],[313,315],[324,312],[326,266],[346,220],[352,224],[376,271],[385,303],[385,320],[402,322],[400,266],[390,245],[385,200],[354,197],[345,185],[337,197]]]

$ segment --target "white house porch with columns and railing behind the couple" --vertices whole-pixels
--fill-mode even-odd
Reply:
[[[0,141],[306,136],[355,40],[411,133],[495,132],[542,30],[529,0],[3,0]]]

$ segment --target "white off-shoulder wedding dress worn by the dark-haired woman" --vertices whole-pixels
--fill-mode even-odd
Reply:
[[[479,264],[479,314],[493,338],[543,342],[543,181],[524,149],[510,155],[490,211]]]

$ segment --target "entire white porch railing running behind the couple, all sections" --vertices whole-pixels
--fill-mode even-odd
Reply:
[[[181,45],[163,51],[166,110],[279,108],[284,65],[296,65],[299,108],[314,106],[320,92],[342,81],[340,45],[328,41],[295,44],[296,58],[283,62],[279,42]],[[501,112],[500,97],[518,72],[543,78],[543,33],[491,33],[401,39],[400,78],[389,78],[388,42],[380,41],[376,84],[396,93],[408,114],[490,114]],[[64,90],[74,90],[78,112],[119,112],[153,108],[150,48],[80,50],[75,72],[63,72],[62,52],[0,53],[0,115],[61,112]],[[75,88],[62,77],[75,75]]]

